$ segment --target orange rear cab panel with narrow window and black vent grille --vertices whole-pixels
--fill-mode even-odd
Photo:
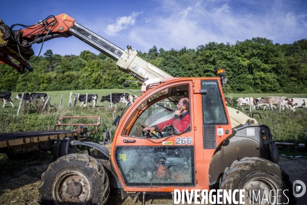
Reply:
[[[196,160],[201,161],[196,165],[197,170],[202,170],[198,181],[204,185],[204,189],[214,185],[209,183],[214,173],[209,175],[209,167],[212,156],[217,147],[221,145],[225,138],[231,134],[231,123],[224,100],[224,95],[220,83],[220,78],[203,78],[194,81],[194,100],[195,109],[199,112],[195,113],[195,135],[196,140]],[[214,168],[212,169],[214,170]],[[199,172],[198,172],[199,173]]]

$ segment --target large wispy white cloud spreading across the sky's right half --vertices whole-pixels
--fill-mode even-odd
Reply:
[[[280,1],[270,5],[264,1],[263,8],[252,2],[246,6],[233,5],[227,0],[189,3],[163,0],[160,4],[147,13],[152,17],[151,22],[129,31],[129,40],[136,49],[147,51],[153,45],[167,50],[196,48],[209,42],[235,44],[237,40],[252,37],[266,37],[284,44],[306,37],[306,17],[288,12],[289,5]]]

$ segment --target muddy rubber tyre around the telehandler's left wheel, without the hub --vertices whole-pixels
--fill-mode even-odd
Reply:
[[[90,201],[82,204],[105,204],[109,194],[110,181],[103,166],[93,157],[85,154],[69,154],[58,158],[51,163],[46,172],[41,175],[41,183],[39,185],[39,199],[40,204],[57,204],[54,195],[54,183],[64,176],[65,173],[74,171],[77,167],[84,168],[85,172],[82,174],[90,175],[95,186],[91,190]],[[99,189],[98,189],[99,188]]]

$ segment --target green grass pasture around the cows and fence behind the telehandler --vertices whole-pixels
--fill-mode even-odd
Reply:
[[[96,108],[92,108],[93,103],[90,103],[87,107],[80,107],[80,102],[76,107],[68,108],[69,95],[71,91],[55,91],[46,92],[48,96],[51,96],[51,103],[49,109],[41,113],[29,114],[26,106],[21,109],[21,114],[16,115],[19,100],[14,100],[14,108],[8,103],[5,108],[0,108],[0,133],[2,132],[19,132],[19,131],[38,131],[38,130],[50,130],[54,125],[57,124],[59,116],[101,116],[101,126],[99,127],[99,133],[93,136],[93,141],[99,141],[103,139],[103,132],[111,129],[113,114],[114,116],[120,115],[125,104],[117,104],[115,107],[109,108],[109,104],[104,101],[97,105]],[[126,92],[124,89],[113,89],[113,90],[76,90],[72,91],[75,93],[85,94],[98,94],[99,101],[102,95],[108,95],[109,93],[123,93]],[[129,94],[134,94],[128,92]],[[12,93],[12,98],[15,98],[17,93]],[[59,107],[60,98],[63,94],[62,106]],[[140,93],[136,93],[137,95]],[[287,96],[291,97],[306,97],[307,94],[232,94],[229,93],[226,97],[266,97],[266,96]],[[74,95],[72,100],[74,99]],[[24,104],[25,105],[25,104]],[[3,106],[3,102],[0,103]],[[249,115],[249,107],[245,107],[243,111]],[[277,107],[278,110],[278,107]],[[242,111],[242,110],[241,110]],[[284,111],[263,111],[257,110],[253,112],[259,112],[262,119],[258,115],[254,115],[259,124],[268,125],[273,134],[273,138],[277,141],[287,142],[307,142],[307,109],[297,108],[296,112],[285,109]],[[77,119],[74,122],[79,122]],[[82,123],[89,121],[82,121]],[[65,128],[65,129],[73,129]],[[115,129],[114,129],[115,130]],[[114,133],[113,130],[113,133]]]

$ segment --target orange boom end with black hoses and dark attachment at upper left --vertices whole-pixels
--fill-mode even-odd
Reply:
[[[0,19],[0,64],[8,64],[18,72],[23,72],[25,68],[29,72],[32,71],[33,69],[29,65],[30,59],[34,55],[32,45],[43,44],[43,42],[56,37],[71,36],[68,29],[74,21],[75,19],[67,14],[60,14],[58,16],[50,15],[33,26],[14,24],[8,27]],[[15,26],[25,27],[25,29],[13,30]],[[17,60],[19,65],[15,64],[11,58]]]

